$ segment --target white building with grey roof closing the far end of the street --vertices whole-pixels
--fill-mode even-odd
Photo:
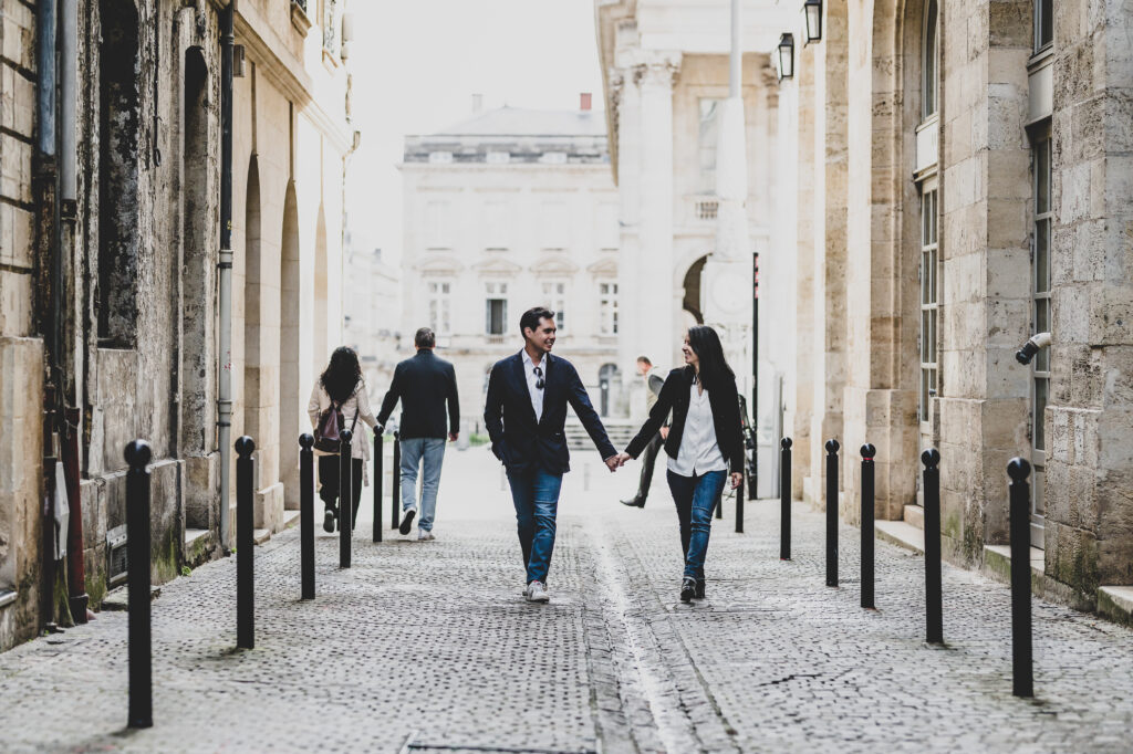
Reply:
[[[590,110],[501,108],[406,138],[402,351],[436,331],[457,368],[467,429],[483,422],[487,374],[521,345],[530,307],[557,314],[569,358],[607,417],[628,415],[619,359],[619,197],[606,122]],[[634,354],[636,355],[636,354]]]

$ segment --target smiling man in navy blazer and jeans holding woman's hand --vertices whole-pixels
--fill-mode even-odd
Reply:
[[[519,545],[527,568],[523,597],[529,602],[547,602],[559,491],[563,474],[570,471],[563,432],[566,404],[574,409],[611,472],[617,469],[617,451],[606,437],[574,366],[551,355],[555,344],[554,312],[543,307],[528,309],[519,328],[523,350],[492,367],[484,425],[492,438],[492,452],[508,470],[516,504]]]

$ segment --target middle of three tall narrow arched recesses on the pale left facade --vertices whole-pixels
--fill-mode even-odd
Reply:
[[[280,243],[280,481],[284,507],[299,507],[299,431],[303,380],[299,365],[299,203],[295,181],[283,199],[283,238]]]

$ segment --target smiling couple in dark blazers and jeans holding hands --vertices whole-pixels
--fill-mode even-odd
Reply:
[[[619,453],[606,437],[573,365],[551,355],[554,312],[543,307],[529,309],[519,326],[523,350],[492,367],[484,422],[492,452],[506,469],[516,505],[527,568],[525,598],[530,602],[551,599],[546,580],[555,543],[559,492],[563,474],[570,471],[563,432],[570,404],[611,472],[637,459],[672,412],[664,444],[684,556],[680,599],[702,599],[713,511],[725,483],[739,487],[744,462],[735,375],[724,359],[716,331],[706,326],[689,328],[681,346],[684,366],[668,372],[649,418]]]

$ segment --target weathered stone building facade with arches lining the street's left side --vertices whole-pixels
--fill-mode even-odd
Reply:
[[[3,2],[0,649],[58,617],[45,599],[54,585],[58,601],[59,582],[43,504],[54,459],[66,457],[65,410],[78,418],[68,486],[83,523],[69,557],[84,562],[92,607],[123,576],[122,451],[134,438],[153,448],[153,579],[222,551],[223,371],[231,436],[252,434],[259,448],[256,525],[283,525],[281,448],[296,445],[300,406],[340,332],[329,291],[340,284],[353,144],[343,6],[242,0],[235,12],[232,341],[221,353],[228,3]],[[57,50],[54,102],[40,61]],[[235,530],[235,496],[229,504]]]

